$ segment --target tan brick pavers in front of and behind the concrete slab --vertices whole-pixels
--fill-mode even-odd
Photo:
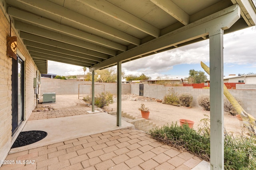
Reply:
[[[53,112],[40,114],[47,119]],[[35,119],[32,113],[30,120]],[[163,145],[143,131],[119,129],[8,154],[6,161],[14,164],[2,165],[0,170],[190,170],[202,160]]]

